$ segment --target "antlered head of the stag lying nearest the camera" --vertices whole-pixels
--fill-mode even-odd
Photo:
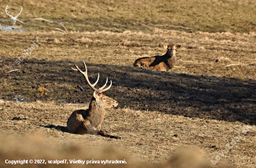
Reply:
[[[94,86],[97,84],[97,82],[99,81],[99,77],[100,74],[98,74],[98,79],[94,84],[91,84],[89,79],[88,79],[88,75],[87,75],[87,67],[85,65],[84,62],[84,68],[85,68],[85,72],[82,72],[79,67],[77,67],[77,65],[75,65],[76,69],[72,68],[74,71],[79,71],[81,74],[84,75],[86,81],[88,82],[88,85],[94,90],[94,94],[93,94],[93,98],[95,99],[95,101],[97,102],[97,105],[101,108],[112,108],[112,107],[116,107],[118,105],[118,102],[115,101],[114,99],[109,98],[108,96],[103,95],[102,93],[107,91],[111,85],[112,85],[112,81],[110,80],[110,85],[109,87],[105,88],[107,83],[108,83],[108,78],[107,81],[105,83],[105,85],[103,85],[103,87],[96,89]]]

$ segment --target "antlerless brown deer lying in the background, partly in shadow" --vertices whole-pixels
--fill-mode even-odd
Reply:
[[[175,66],[176,63],[176,49],[181,45],[175,46],[174,44],[164,45],[167,49],[166,54],[154,57],[143,57],[135,60],[133,66],[145,67],[147,69],[155,69],[157,71],[168,71]]]

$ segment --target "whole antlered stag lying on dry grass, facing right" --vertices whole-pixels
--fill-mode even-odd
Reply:
[[[99,81],[100,74],[98,74],[97,81],[92,85],[87,76],[87,67],[84,62],[85,72],[82,72],[77,65],[75,65],[76,69],[72,68],[74,71],[79,71],[81,74],[85,76],[86,81],[89,86],[94,90],[94,94],[92,96],[91,102],[89,104],[88,109],[80,109],[74,111],[67,120],[67,129],[74,134],[99,134],[101,136],[121,139],[119,136],[114,136],[107,134],[106,131],[102,130],[101,124],[103,122],[104,116],[106,114],[105,108],[112,108],[118,105],[118,102],[103,95],[102,92],[108,90],[112,81],[110,82],[109,87],[105,88],[108,82],[99,89],[96,89],[94,86]],[[104,89],[105,88],[105,89]]]

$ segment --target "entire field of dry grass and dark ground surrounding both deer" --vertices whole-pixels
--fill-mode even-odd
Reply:
[[[11,166],[6,159],[31,158],[127,161],[88,167],[255,168],[254,1],[2,0],[2,13],[8,4],[10,11],[23,7],[20,20],[54,20],[69,33],[28,25],[22,27],[30,31],[22,33],[0,31],[0,167]],[[2,26],[11,24],[0,17]],[[175,30],[163,31],[139,23],[193,29],[159,27]],[[22,60],[35,38],[40,45]],[[157,72],[132,66],[140,57],[165,54],[165,44],[181,45],[178,67]],[[104,94],[119,105],[107,110],[103,127],[121,140],[67,131],[69,115],[87,108],[93,94],[70,68],[76,64],[84,70],[82,60],[90,81],[100,73],[97,86],[106,77],[112,80]],[[9,72],[13,66],[19,70]],[[214,166],[210,160],[216,159]],[[22,166],[27,167],[13,165]]]

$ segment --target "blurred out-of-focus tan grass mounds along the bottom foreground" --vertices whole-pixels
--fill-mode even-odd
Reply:
[[[0,137],[1,168],[158,168],[159,166],[162,168],[209,168],[202,154],[199,152],[191,154],[188,150],[176,154],[168,162],[153,165],[140,162],[118,148],[86,147],[82,141],[73,141],[60,148],[55,143],[46,141],[46,138],[38,134],[23,138],[7,137],[2,134]],[[16,161],[16,164],[7,164],[6,161]],[[31,161],[33,163],[30,163]],[[56,161],[59,161],[58,164]],[[74,163],[74,161],[80,162]],[[119,164],[115,164],[115,161]]]

